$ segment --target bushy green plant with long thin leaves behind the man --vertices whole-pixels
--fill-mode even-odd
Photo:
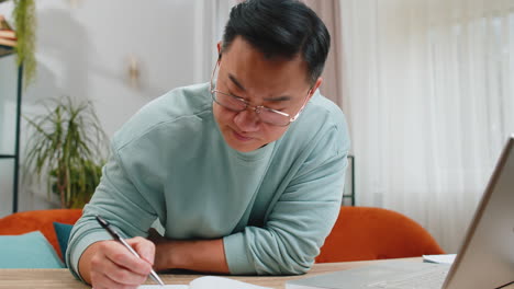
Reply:
[[[81,208],[100,182],[107,136],[91,102],[62,97],[51,104],[44,114],[24,117],[31,128],[25,167],[38,182],[46,175],[48,197],[56,193],[62,208]]]

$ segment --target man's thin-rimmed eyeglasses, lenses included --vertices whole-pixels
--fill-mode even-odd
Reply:
[[[211,91],[212,100],[219,105],[225,107],[226,109],[235,112],[235,113],[241,113],[245,109],[250,108],[258,115],[259,119],[262,123],[273,125],[273,126],[288,126],[289,124],[298,119],[303,108],[305,107],[305,104],[309,100],[308,96],[309,94],[311,94],[312,89],[309,90],[302,107],[293,117],[291,117],[289,114],[284,112],[276,111],[276,109],[262,106],[262,105],[250,105],[248,101],[242,97],[235,96],[231,93],[216,90],[214,88],[213,80],[214,80],[214,74],[215,74],[219,63],[220,62],[216,62],[216,66],[214,67],[214,70],[212,71],[210,91]]]

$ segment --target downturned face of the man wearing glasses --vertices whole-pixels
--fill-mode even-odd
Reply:
[[[312,92],[320,84],[321,79]],[[239,36],[223,51],[215,89],[242,97],[253,106],[262,105],[291,117],[312,96],[306,65],[300,57],[266,59]],[[225,141],[241,152],[256,150],[279,139],[289,127],[262,123],[252,108],[237,113],[213,102],[213,113]]]

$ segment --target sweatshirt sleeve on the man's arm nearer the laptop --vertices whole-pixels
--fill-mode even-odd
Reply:
[[[224,238],[232,274],[306,273],[340,209],[349,140],[337,129],[319,139],[269,210],[262,227]]]

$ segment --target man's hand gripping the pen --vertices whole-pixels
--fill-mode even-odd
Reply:
[[[90,245],[79,261],[79,273],[93,288],[136,288],[148,277],[155,257],[155,245],[136,236],[126,242],[139,254],[134,256],[115,241]]]

